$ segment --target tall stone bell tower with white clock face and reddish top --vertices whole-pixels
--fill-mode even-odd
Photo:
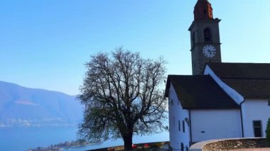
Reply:
[[[220,19],[213,18],[212,6],[207,0],[198,0],[194,8],[190,31],[193,75],[203,74],[205,63],[221,62]]]

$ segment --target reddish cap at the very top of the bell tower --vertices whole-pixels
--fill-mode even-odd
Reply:
[[[194,8],[194,20],[212,19],[212,6],[207,0],[198,0]]]

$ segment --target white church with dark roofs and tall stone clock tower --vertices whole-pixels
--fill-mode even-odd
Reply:
[[[168,75],[170,145],[265,137],[270,118],[270,64],[222,62],[219,18],[198,0],[190,28],[193,75]]]

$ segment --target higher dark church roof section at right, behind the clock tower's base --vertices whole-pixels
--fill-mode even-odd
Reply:
[[[270,98],[270,64],[209,63],[223,82],[248,99]]]

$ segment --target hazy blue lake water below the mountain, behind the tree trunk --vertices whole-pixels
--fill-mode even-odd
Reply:
[[[49,128],[0,128],[0,150],[26,151],[29,148],[48,147],[59,142],[77,139],[76,127],[49,127]],[[168,141],[168,132],[150,136],[135,136],[134,143]],[[101,147],[122,145],[122,140],[107,140],[97,145],[85,147],[72,147],[65,151],[90,150]]]

